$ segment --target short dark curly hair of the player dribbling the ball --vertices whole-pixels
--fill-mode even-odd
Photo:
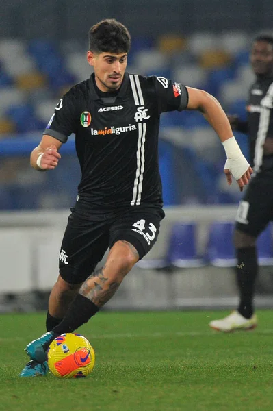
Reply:
[[[89,49],[93,53],[128,53],[131,46],[128,29],[115,18],[107,18],[93,25],[88,38]]]

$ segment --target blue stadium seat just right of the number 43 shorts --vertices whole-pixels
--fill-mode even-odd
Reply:
[[[196,223],[175,223],[170,235],[168,260],[179,268],[200,267],[205,265],[198,256],[196,247]]]

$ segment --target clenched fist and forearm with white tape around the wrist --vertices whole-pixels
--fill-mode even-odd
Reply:
[[[57,138],[44,134],[38,147],[31,152],[31,166],[38,171],[55,169],[61,158],[60,153],[58,153],[61,146],[62,142]]]

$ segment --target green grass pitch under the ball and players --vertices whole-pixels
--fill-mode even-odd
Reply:
[[[96,352],[83,379],[18,377],[45,314],[1,314],[0,410],[272,411],[273,312],[252,332],[209,329],[226,314],[101,312],[79,329]]]

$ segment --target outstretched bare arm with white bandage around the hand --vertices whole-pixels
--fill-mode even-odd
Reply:
[[[226,151],[227,160],[224,165],[224,173],[227,182],[229,185],[231,184],[231,175],[233,175],[242,191],[244,185],[248,184],[253,171],[233,136],[229,119],[222,106],[215,97],[204,90],[187,87],[187,92],[188,103],[186,110],[198,110],[201,112],[216,131]]]

